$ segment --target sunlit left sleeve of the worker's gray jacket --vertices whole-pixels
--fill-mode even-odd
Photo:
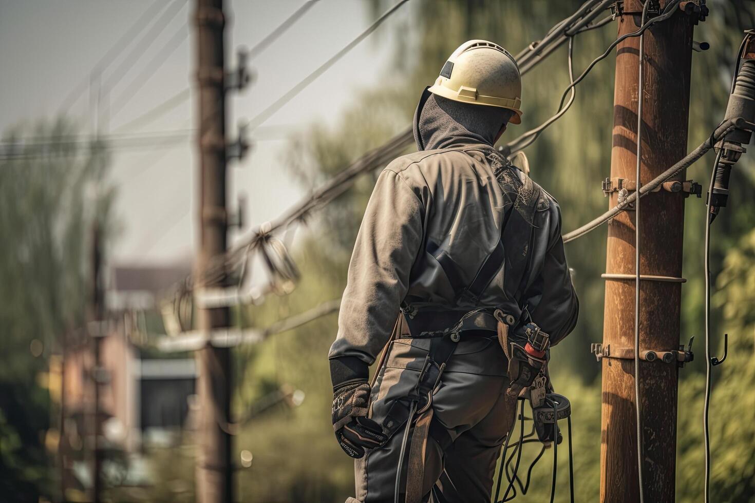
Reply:
[[[422,244],[423,215],[418,195],[384,170],[356,236],[331,360],[356,357],[370,365],[390,338]]]

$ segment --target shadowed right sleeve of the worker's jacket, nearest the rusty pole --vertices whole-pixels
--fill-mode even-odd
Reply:
[[[579,314],[579,300],[566,265],[561,237],[561,210],[551,201],[550,236],[543,267],[538,278],[525,292],[532,321],[550,334],[550,345],[561,342],[574,330]]]

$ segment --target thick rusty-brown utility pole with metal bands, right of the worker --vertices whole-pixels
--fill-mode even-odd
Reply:
[[[650,0],[649,0],[650,1]],[[618,35],[640,26],[643,3],[617,2]],[[664,8],[670,0],[653,2]],[[692,4],[693,2],[681,2]],[[651,8],[648,18],[658,15]],[[694,18],[676,7],[645,35],[643,91],[643,184],[687,152],[689,81]],[[655,11],[655,12],[654,12]],[[634,180],[638,104],[639,37],[616,50],[611,176]],[[676,179],[683,179],[680,173]],[[615,185],[614,185],[615,186]],[[617,204],[612,192],[610,205]],[[641,201],[639,347],[671,351],[680,344],[683,192],[653,192]],[[632,210],[609,221],[603,349],[622,357],[602,359],[600,501],[639,501],[634,398],[635,236]],[[621,275],[617,278],[616,275]],[[613,276],[613,277],[612,277]],[[631,348],[631,351],[621,351]],[[627,356],[627,354],[629,356]],[[631,358],[631,359],[629,359]],[[676,363],[639,362],[645,501],[673,501],[676,470]]]

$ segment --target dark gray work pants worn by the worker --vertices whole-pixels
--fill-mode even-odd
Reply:
[[[392,342],[372,389],[372,419],[381,423],[393,400],[414,388],[429,347],[428,339]],[[516,398],[506,395],[506,369],[495,336],[470,336],[458,342],[432,404],[433,421],[445,428],[452,443],[443,450],[432,435],[427,440],[424,501],[490,501],[496,461],[516,409]],[[356,460],[356,500],[347,501],[393,501],[403,433],[404,428],[399,429],[385,446]],[[407,456],[408,452],[405,463]]]

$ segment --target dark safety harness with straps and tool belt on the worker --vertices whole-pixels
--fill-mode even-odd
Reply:
[[[501,238],[491,253],[480,265],[470,284],[464,284],[458,265],[441,250],[437,244],[428,242],[426,250],[439,262],[451,287],[457,293],[455,306],[479,305],[482,293],[501,267],[506,267],[504,291],[507,305],[483,305],[471,311],[461,308],[432,308],[428,306],[402,305],[399,320],[396,321],[393,335],[384,348],[378,373],[393,339],[409,336],[414,339],[430,339],[430,350],[422,365],[422,370],[412,391],[402,399],[391,403],[383,423],[384,433],[393,437],[400,428],[405,428],[399,452],[399,466],[396,471],[394,498],[400,501],[404,458],[408,459],[405,470],[406,503],[419,503],[422,498],[424,479],[424,459],[427,439],[432,436],[442,449],[451,445],[451,437],[442,425],[433,422],[433,394],[440,385],[441,376],[448,360],[454,354],[456,344],[463,336],[479,334],[480,330],[498,333],[498,340],[509,360],[508,373],[511,387],[508,391],[519,396],[522,389],[529,389],[535,378],[541,375],[545,366],[545,351],[549,337],[529,320],[526,307],[519,308],[519,297],[529,286],[529,272],[532,261],[532,239],[534,235],[535,212],[548,207],[548,198],[527,176],[519,176],[518,170],[506,158],[485,146],[472,146],[459,149],[471,155],[471,151],[481,152],[492,164],[495,178],[504,195],[504,221],[501,222]],[[523,336],[510,336],[520,321],[526,320]],[[406,334],[408,332],[408,334]],[[535,393],[544,400],[545,382],[538,381]],[[544,423],[543,423],[544,424]],[[408,445],[409,431],[413,425],[411,445]],[[543,428],[541,428],[543,429]],[[543,433],[545,434],[545,432]],[[507,436],[508,440],[508,436]]]

